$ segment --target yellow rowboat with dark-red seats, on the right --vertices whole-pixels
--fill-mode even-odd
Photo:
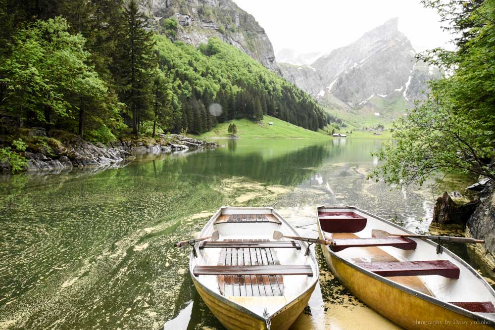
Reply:
[[[492,329],[495,291],[466,262],[427,239],[353,206],[317,208],[318,235],[334,275],[360,300],[405,329]],[[376,233],[376,232],[375,232]]]

